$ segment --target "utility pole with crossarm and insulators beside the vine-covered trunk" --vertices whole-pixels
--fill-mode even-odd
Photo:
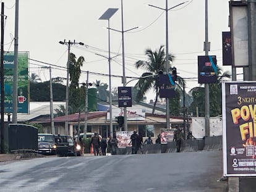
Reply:
[[[66,121],[65,121],[65,134],[68,135],[68,131],[69,131],[69,128],[68,128],[68,115],[69,115],[69,64],[70,64],[70,46],[72,44],[80,44],[80,45],[84,45],[84,43],[82,42],[79,42],[79,43],[76,43],[75,40],[72,42],[72,41],[59,41],[59,44],[66,44],[67,45],[67,85],[66,85],[66,109],[65,109],[65,116],[66,116]]]

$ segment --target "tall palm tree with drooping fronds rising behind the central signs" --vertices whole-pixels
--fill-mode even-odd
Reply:
[[[137,61],[135,64],[135,67],[137,69],[139,69],[140,67],[143,67],[148,71],[142,74],[141,78],[135,85],[135,88],[138,91],[136,96],[136,101],[142,101],[145,93],[147,93],[147,91],[150,90],[151,88],[154,88],[156,93],[156,99],[155,99],[153,110],[152,110],[152,114],[154,114],[156,102],[158,101],[158,96],[159,96],[157,74],[160,70],[164,72],[166,71],[166,53],[164,51],[164,46],[161,45],[160,49],[158,49],[155,52],[151,51],[151,49],[146,49],[145,55],[148,57],[148,61]],[[172,62],[173,59],[174,59],[174,56],[172,54],[169,54],[168,60]],[[171,69],[171,65],[169,66],[169,70],[170,69]],[[181,82],[185,83],[181,77],[177,77],[177,83],[180,84]]]

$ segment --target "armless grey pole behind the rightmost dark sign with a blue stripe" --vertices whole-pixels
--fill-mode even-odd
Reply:
[[[205,0],[205,56],[210,51],[210,42],[208,42],[208,0]],[[210,136],[210,94],[209,84],[205,83],[205,136]]]

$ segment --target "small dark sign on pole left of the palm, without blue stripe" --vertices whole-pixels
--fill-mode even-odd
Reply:
[[[118,87],[118,107],[132,107],[132,87]]]

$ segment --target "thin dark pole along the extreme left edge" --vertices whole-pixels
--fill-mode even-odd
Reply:
[[[4,153],[4,2],[1,9],[1,153]]]

